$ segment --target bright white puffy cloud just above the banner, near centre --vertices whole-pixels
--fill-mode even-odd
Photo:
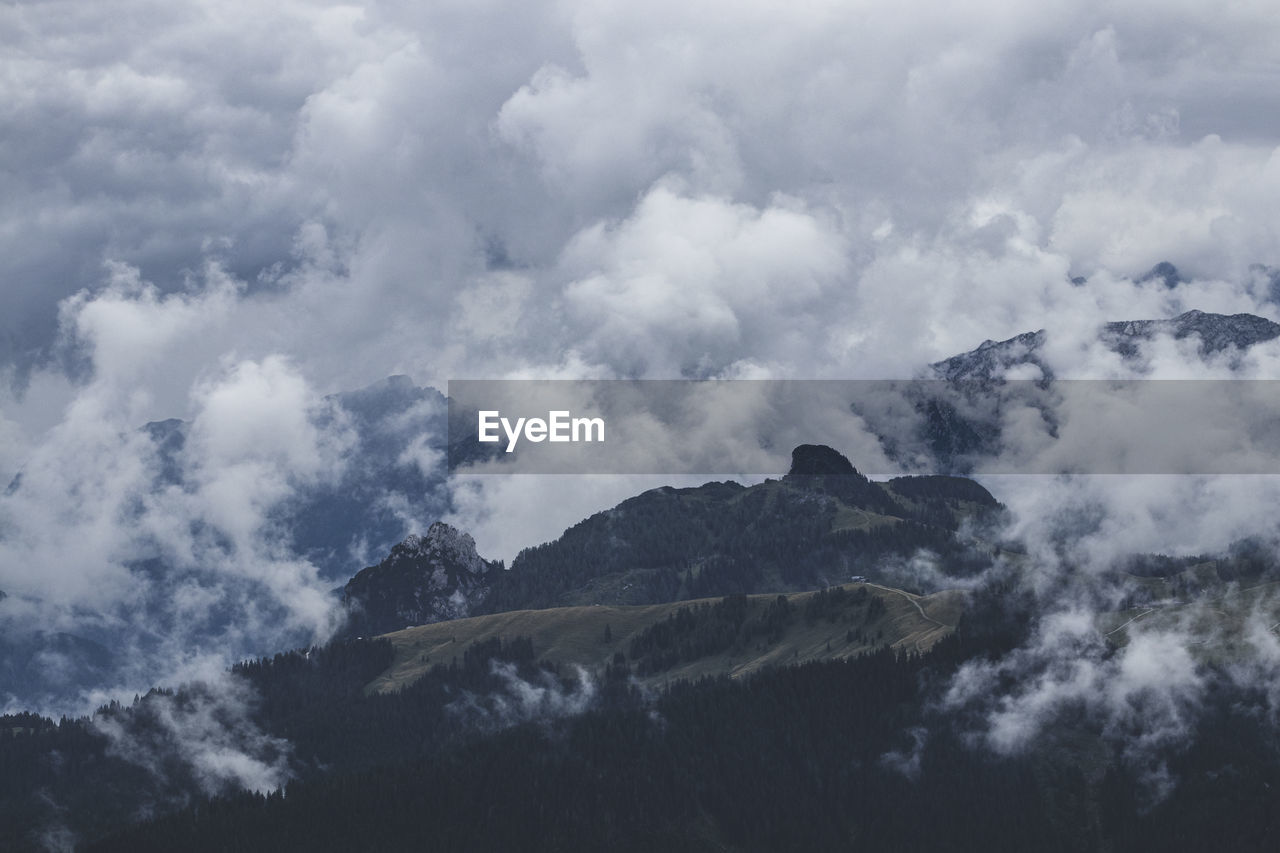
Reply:
[[[620,225],[589,228],[566,247],[575,348],[625,375],[786,362],[806,329],[778,329],[773,318],[818,311],[846,273],[842,242],[795,200],[760,210],[660,186]]]

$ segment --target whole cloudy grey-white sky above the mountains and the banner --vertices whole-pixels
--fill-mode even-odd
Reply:
[[[128,602],[140,539],[211,560],[198,521],[323,633],[264,519],[342,465],[323,397],[389,374],[904,378],[1276,318],[1267,0],[50,0],[0,40],[0,589],[69,610]]]

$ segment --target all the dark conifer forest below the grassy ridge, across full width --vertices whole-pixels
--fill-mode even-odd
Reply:
[[[820,619],[829,606],[815,598],[808,613],[771,617]],[[1171,751],[1170,771],[1180,781],[1160,798],[1149,795],[1149,768],[1128,762],[1087,716],[1064,721],[1016,757],[975,748],[968,721],[938,711],[937,699],[964,661],[1025,640],[1027,613],[1000,590],[975,601],[959,630],[927,654],[883,649],[748,679],[637,689],[632,660],[652,665],[681,638],[716,637],[741,610],[730,597],[646,633],[632,654],[607,667],[580,713],[554,712],[548,699],[581,685],[539,661],[525,639],[475,644],[389,694],[362,689],[389,660],[385,640],[246,662],[233,678],[255,688],[253,724],[292,744],[296,776],[273,792],[207,795],[177,775],[157,786],[154,774],[113,757],[97,726],[6,717],[0,757],[12,772],[0,792],[0,825],[8,827],[0,841],[35,847],[28,831],[47,821],[52,804],[74,803],[88,850],[1169,850],[1193,849],[1189,838],[1211,839],[1203,849],[1276,843],[1280,744],[1266,719],[1245,711],[1251,697],[1230,689],[1213,694],[1196,739]],[[544,701],[521,712],[513,684],[544,690]],[[183,693],[157,692],[99,716],[145,738],[156,729],[160,699],[200,698]],[[148,809],[163,813],[146,818]],[[120,827],[122,811],[141,822]]]

